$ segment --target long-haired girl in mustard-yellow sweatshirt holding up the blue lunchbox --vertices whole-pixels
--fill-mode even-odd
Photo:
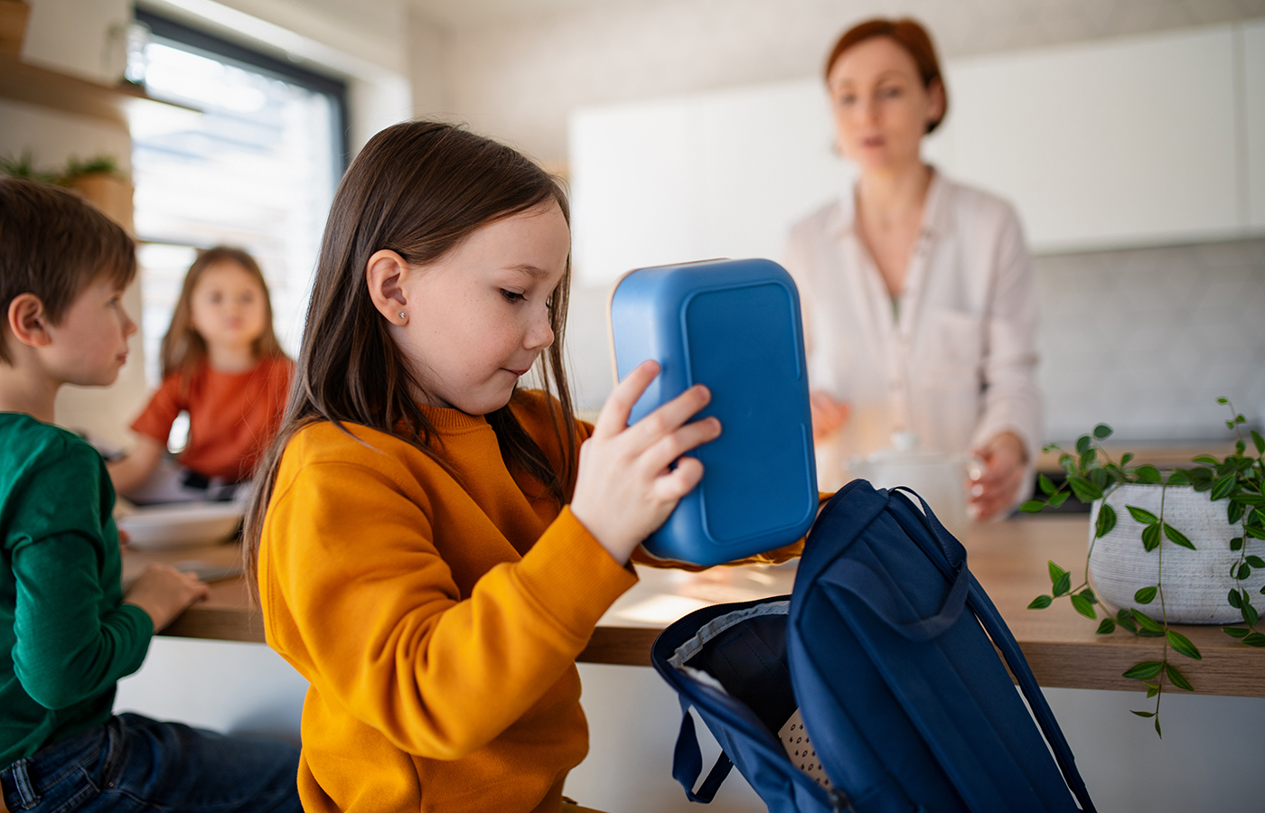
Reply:
[[[569,255],[562,188],[458,128],[383,130],[339,186],[247,522],[309,813],[563,809],[576,656],[721,431],[702,387],[627,426],[653,362],[576,421]]]

